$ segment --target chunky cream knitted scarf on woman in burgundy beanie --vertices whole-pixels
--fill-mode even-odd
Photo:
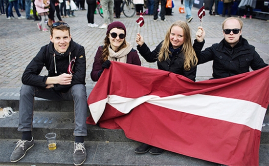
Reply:
[[[110,48],[110,46],[109,46],[109,57],[108,57],[108,59],[110,61],[126,63],[127,62],[126,55],[129,54],[129,52],[133,48],[130,42],[126,42],[126,44],[127,44],[127,47],[122,48],[118,52],[113,51],[112,48]]]

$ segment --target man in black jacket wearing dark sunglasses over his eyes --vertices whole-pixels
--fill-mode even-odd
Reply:
[[[213,79],[234,76],[268,66],[255,47],[242,38],[243,22],[234,17],[223,22],[224,39],[197,54],[198,64],[213,61]]]

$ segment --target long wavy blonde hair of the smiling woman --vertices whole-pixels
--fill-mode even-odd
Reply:
[[[185,21],[176,21],[174,22],[169,29],[166,32],[165,39],[162,42],[162,46],[160,48],[158,60],[161,61],[166,61],[169,59],[169,54],[171,54],[171,51],[169,50],[169,45],[170,45],[170,33],[171,29],[173,26],[179,26],[183,29],[183,46],[182,46],[182,52],[184,55],[184,69],[186,71],[189,71],[191,67],[196,66],[198,59],[196,57],[196,53],[192,47],[192,40],[191,40],[191,33],[190,33],[190,28]]]

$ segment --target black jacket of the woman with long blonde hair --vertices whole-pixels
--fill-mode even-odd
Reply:
[[[162,41],[163,42],[163,41]],[[186,71],[184,69],[184,55],[182,51],[179,52],[179,54],[170,57],[170,59],[167,59],[166,61],[160,62],[158,60],[158,54],[162,45],[162,42],[160,42],[155,50],[152,52],[150,51],[150,48],[147,46],[146,43],[141,45],[137,45],[137,50],[139,51],[140,55],[144,57],[144,59],[147,62],[156,62],[157,61],[157,66],[158,69],[160,70],[165,70],[165,71],[170,71],[175,74],[182,75],[184,77],[187,77],[188,79],[195,81],[196,77],[196,70],[197,66],[192,67],[189,71]],[[204,42],[197,42],[195,40],[193,44],[193,48],[197,54],[197,52],[201,52],[202,47],[203,47]]]

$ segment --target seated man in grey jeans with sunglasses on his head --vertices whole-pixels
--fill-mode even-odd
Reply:
[[[85,50],[83,46],[72,41],[70,27],[66,22],[53,23],[50,34],[51,42],[41,48],[22,75],[18,128],[18,131],[22,132],[22,140],[17,143],[10,161],[18,162],[26,151],[34,146],[31,133],[34,97],[39,97],[56,101],[74,101],[73,162],[75,166],[80,166],[87,156],[84,145],[88,111]],[[44,66],[48,70],[47,76],[39,75]]]

